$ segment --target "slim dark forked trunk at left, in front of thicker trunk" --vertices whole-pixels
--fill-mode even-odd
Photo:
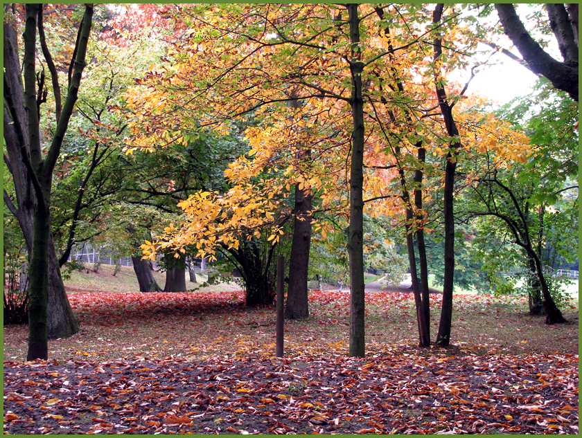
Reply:
[[[7,10],[5,9],[5,11]],[[19,156],[9,157],[7,165],[12,169],[12,174],[14,174],[16,166],[20,165],[20,163],[24,164],[26,176],[22,174],[20,176],[25,178],[26,189],[24,189],[24,192],[28,190],[26,201],[35,201],[32,221],[32,248],[29,264],[30,286],[28,288],[27,358],[29,361],[36,358],[48,358],[47,307],[49,301],[49,275],[51,273],[49,264],[51,263],[51,255],[54,252],[54,245],[51,239],[51,185],[53,170],[60,155],[60,147],[64,135],[67,132],[71,114],[73,113],[82,70],[85,67],[85,54],[89,41],[89,31],[91,30],[93,6],[87,5],[85,7],[85,15],[83,16],[78,33],[77,55],[73,74],[71,75],[69,92],[64,107],[62,108],[60,120],[55,128],[51,145],[46,149],[46,153],[43,153],[42,150],[39,129],[39,105],[44,102],[46,93],[44,91],[42,77],[39,82],[39,90],[37,91],[35,71],[36,30],[39,22],[39,14],[42,14],[41,6],[34,4],[26,5],[26,22],[23,35],[24,93],[22,92],[21,80],[18,73],[17,39],[14,29],[10,25],[10,20],[5,21],[4,24],[5,41],[3,44],[5,61],[8,61],[3,82],[5,102],[4,120],[8,120],[8,127],[4,131],[5,142],[15,141],[15,144],[11,145],[10,148],[19,152]],[[10,70],[12,71],[10,72]],[[34,196],[30,192],[33,192]],[[6,198],[7,196],[5,194]],[[20,201],[17,200],[17,203],[20,203]],[[9,208],[13,210],[13,207]],[[28,207],[32,208],[31,206]],[[28,223],[26,225],[28,227]],[[56,255],[54,261],[56,262]]]

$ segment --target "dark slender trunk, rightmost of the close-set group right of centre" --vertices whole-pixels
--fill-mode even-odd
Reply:
[[[436,25],[441,21],[443,3],[434,8],[432,22]],[[442,40],[439,33],[434,37],[434,61],[443,53]],[[439,99],[439,108],[443,115],[448,136],[455,139],[450,145],[445,165],[445,186],[443,188],[443,221],[445,228],[445,273],[443,279],[443,304],[441,307],[441,321],[439,333],[436,335],[436,345],[446,347],[450,343],[450,329],[452,323],[452,291],[455,280],[455,217],[453,215],[453,194],[455,189],[455,170],[457,168],[456,152],[461,148],[459,129],[452,116],[452,105],[448,103],[447,94],[442,83],[441,72],[436,72],[436,97]]]

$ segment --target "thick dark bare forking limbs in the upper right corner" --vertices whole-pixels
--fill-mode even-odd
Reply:
[[[578,8],[548,4],[550,26],[564,62],[555,60],[529,35],[511,3],[495,4],[505,34],[518,48],[533,73],[543,75],[578,102]]]

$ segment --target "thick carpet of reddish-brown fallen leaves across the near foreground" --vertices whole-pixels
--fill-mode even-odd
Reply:
[[[4,363],[23,433],[568,433],[578,357],[217,356]]]

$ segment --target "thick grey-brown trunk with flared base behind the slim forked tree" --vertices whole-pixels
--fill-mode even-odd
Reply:
[[[9,12],[6,11],[9,15]],[[38,12],[37,17],[42,17]],[[16,205],[4,191],[4,201],[8,209],[16,217],[26,241],[28,256],[33,253],[33,221],[35,215],[35,190],[22,156],[23,150],[30,149],[28,145],[28,124],[24,103],[24,88],[20,76],[20,61],[18,57],[17,35],[9,20],[3,26],[4,95],[3,134],[8,155],[4,161],[12,174],[16,193]],[[8,94],[8,95],[7,95]],[[36,106],[36,103],[35,103]],[[24,148],[22,146],[24,145]],[[78,331],[78,322],[64,291],[58,257],[55,252],[52,235],[48,244],[48,298],[46,331],[49,339],[66,338]],[[30,261],[30,260],[29,260]]]

